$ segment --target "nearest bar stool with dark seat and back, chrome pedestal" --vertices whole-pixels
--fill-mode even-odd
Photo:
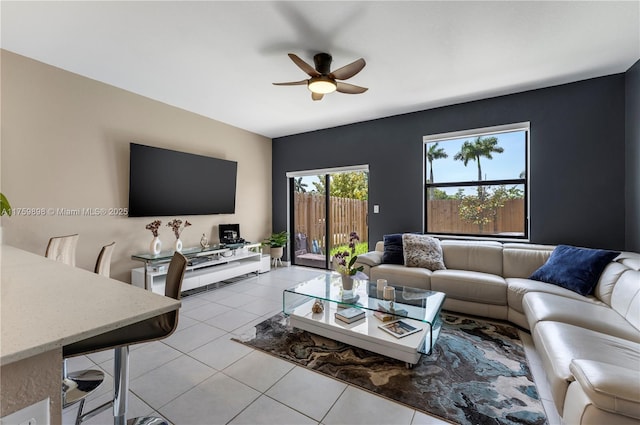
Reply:
[[[179,252],[174,253],[165,284],[165,296],[180,299],[182,280],[187,269],[187,259]],[[85,354],[115,349],[113,365],[114,398],[95,409],[82,413],[78,412],[76,424],[79,424],[100,412],[113,406],[113,423],[146,425],[168,425],[160,418],[135,418],[127,422],[127,394],[129,391],[129,346],[143,342],[157,341],[171,335],[178,326],[178,310],[152,317],[142,322],[134,323],[123,328],[115,329],[101,335],[78,341],[62,347],[63,357],[74,357]]]

